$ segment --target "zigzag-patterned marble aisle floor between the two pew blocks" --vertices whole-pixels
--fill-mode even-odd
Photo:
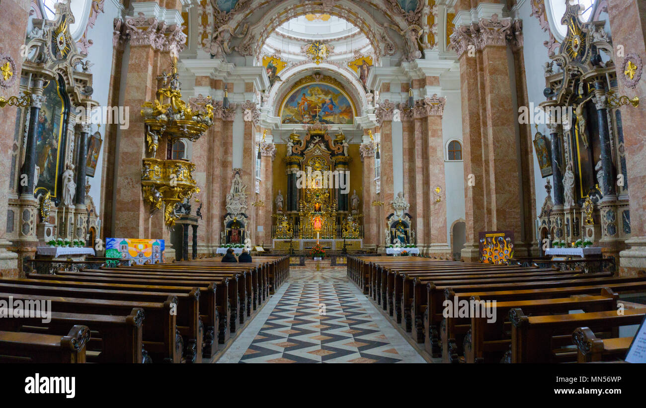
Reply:
[[[292,267],[218,363],[424,363],[345,267]]]

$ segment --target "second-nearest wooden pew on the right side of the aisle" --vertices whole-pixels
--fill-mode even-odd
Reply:
[[[610,332],[616,338],[618,327],[641,323],[646,309],[526,316],[522,309],[509,312],[512,321],[512,363],[572,362],[578,358],[572,346],[571,333],[578,327],[590,327],[594,332]]]

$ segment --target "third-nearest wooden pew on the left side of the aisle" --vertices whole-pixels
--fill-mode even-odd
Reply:
[[[169,295],[160,301],[124,301],[87,298],[69,298],[43,294],[21,294],[14,292],[0,293],[0,299],[8,301],[23,299],[29,301],[51,301],[52,311],[80,314],[112,314],[127,316],[134,308],[141,308],[145,313],[143,325],[143,347],[149,352],[153,362],[182,362],[183,340],[177,329],[176,316],[172,313],[173,305],[178,304],[177,296]]]

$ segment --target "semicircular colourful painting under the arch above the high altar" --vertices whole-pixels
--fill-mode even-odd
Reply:
[[[282,123],[352,125],[354,107],[339,88],[324,83],[304,85],[283,102]]]

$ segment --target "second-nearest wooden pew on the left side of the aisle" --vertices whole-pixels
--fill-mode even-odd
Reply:
[[[127,316],[50,312],[49,318],[47,323],[37,317],[0,319],[0,330],[66,335],[70,325],[87,326],[91,331],[86,347],[87,362],[151,362],[141,340],[144,320],[141,308],[132,309]]]

